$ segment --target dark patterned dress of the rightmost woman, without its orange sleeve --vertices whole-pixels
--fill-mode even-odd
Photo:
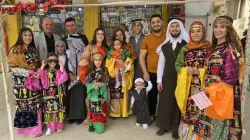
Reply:
[[[235,85],[239,73],[239,62],[234,57],[235,55],[231,44],[222,43],[216,46],[209,59],[205,80],[206,86],[217,82],[218,77],[226,84]],[[235,103],[237,104],[237,107],[234,106],[234,114],[236,114],[239,113],[237,111],[240,111],[238,103],[240,101],[238,101],[239,97],[237,97],[239,94],[236,94],[236,91],[234,93]],[[204,110],[200,112],[198,117],[199,119],[195,122],[193,132],[203,139],[231,140],[233,138],[234,140],[240,140],[241,125],[239,123],[241,122],[237,120],[240,118],[234,117],[234,120],[215,120],[206,116]],[[234,129],[233,127],[235,126],[239,129]],[[235,130],[240,131],[236,132]]]

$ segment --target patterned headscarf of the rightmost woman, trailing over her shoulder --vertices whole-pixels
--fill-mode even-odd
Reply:
[[[234,29],[233,27],[233,19],[229,16],[219,16],[217,17],[215,20],[214,20],[214,23],[213,23],[213,27],[216,25],[216,24],[223,24],[224,26],[230,28],[232,30],[232,33],[233,33],[233,36],[231,37],[235,37],[234,39],[231,39],[231,40],[235,40],[235,42],[232,42],[235,47],[235,49],[240,53],[242,54],[242,44],[241,44],[241,41],[240,41],[240,37],[239,35],[237,34],[236,30]]]

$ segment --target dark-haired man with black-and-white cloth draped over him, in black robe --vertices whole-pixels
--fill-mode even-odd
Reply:
[[[66,94],[66,102],[68,102],[66,108],[69,108],[68,112],[66,112],[66,116],[69,124],[76,122],[77,125],[80,125],[87,116],[87,108],[85,105],[86,87],[75,81],[78,80],[78,64],[89,41],[86,35],[77,33],[74,18],[67,18],[64,24],[68,35],[63,38],[63,41],[67,48],[68,63],[73,69],[69,77],[70,82],[75,83]]]

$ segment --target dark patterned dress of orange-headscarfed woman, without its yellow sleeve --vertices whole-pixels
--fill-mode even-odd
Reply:
[[[207,65],[207,58],[209,56],[209,49],[198,48],[188,49],[183,47],[176,60],[176,70],[179,72],[183,67],[196,67],[204,68]],[[197,120],[199,113],[198,107],[195,105],[191,96],[201,91],[201,79],[198,74],[193,74],[190,84],[190,91],[188,93],[188,99],[186,103],[186,112],[181,117],[181,123],[179,126],[179,136],[182,139],[192,140],[195,135],[192,133],[194,123]]]

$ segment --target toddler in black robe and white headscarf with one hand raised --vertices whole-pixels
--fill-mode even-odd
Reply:
[[[137,78],[135,80],[135,89],[132,91],[130,108],[133,108],[133,113],[137,115],[136,126],[142,124],[144,129],[147,129],[148,125],[151,124],[147,94],[152,87],[151,81],[148,81],[148,86],[145,88],[144,80],[142,78]]]

